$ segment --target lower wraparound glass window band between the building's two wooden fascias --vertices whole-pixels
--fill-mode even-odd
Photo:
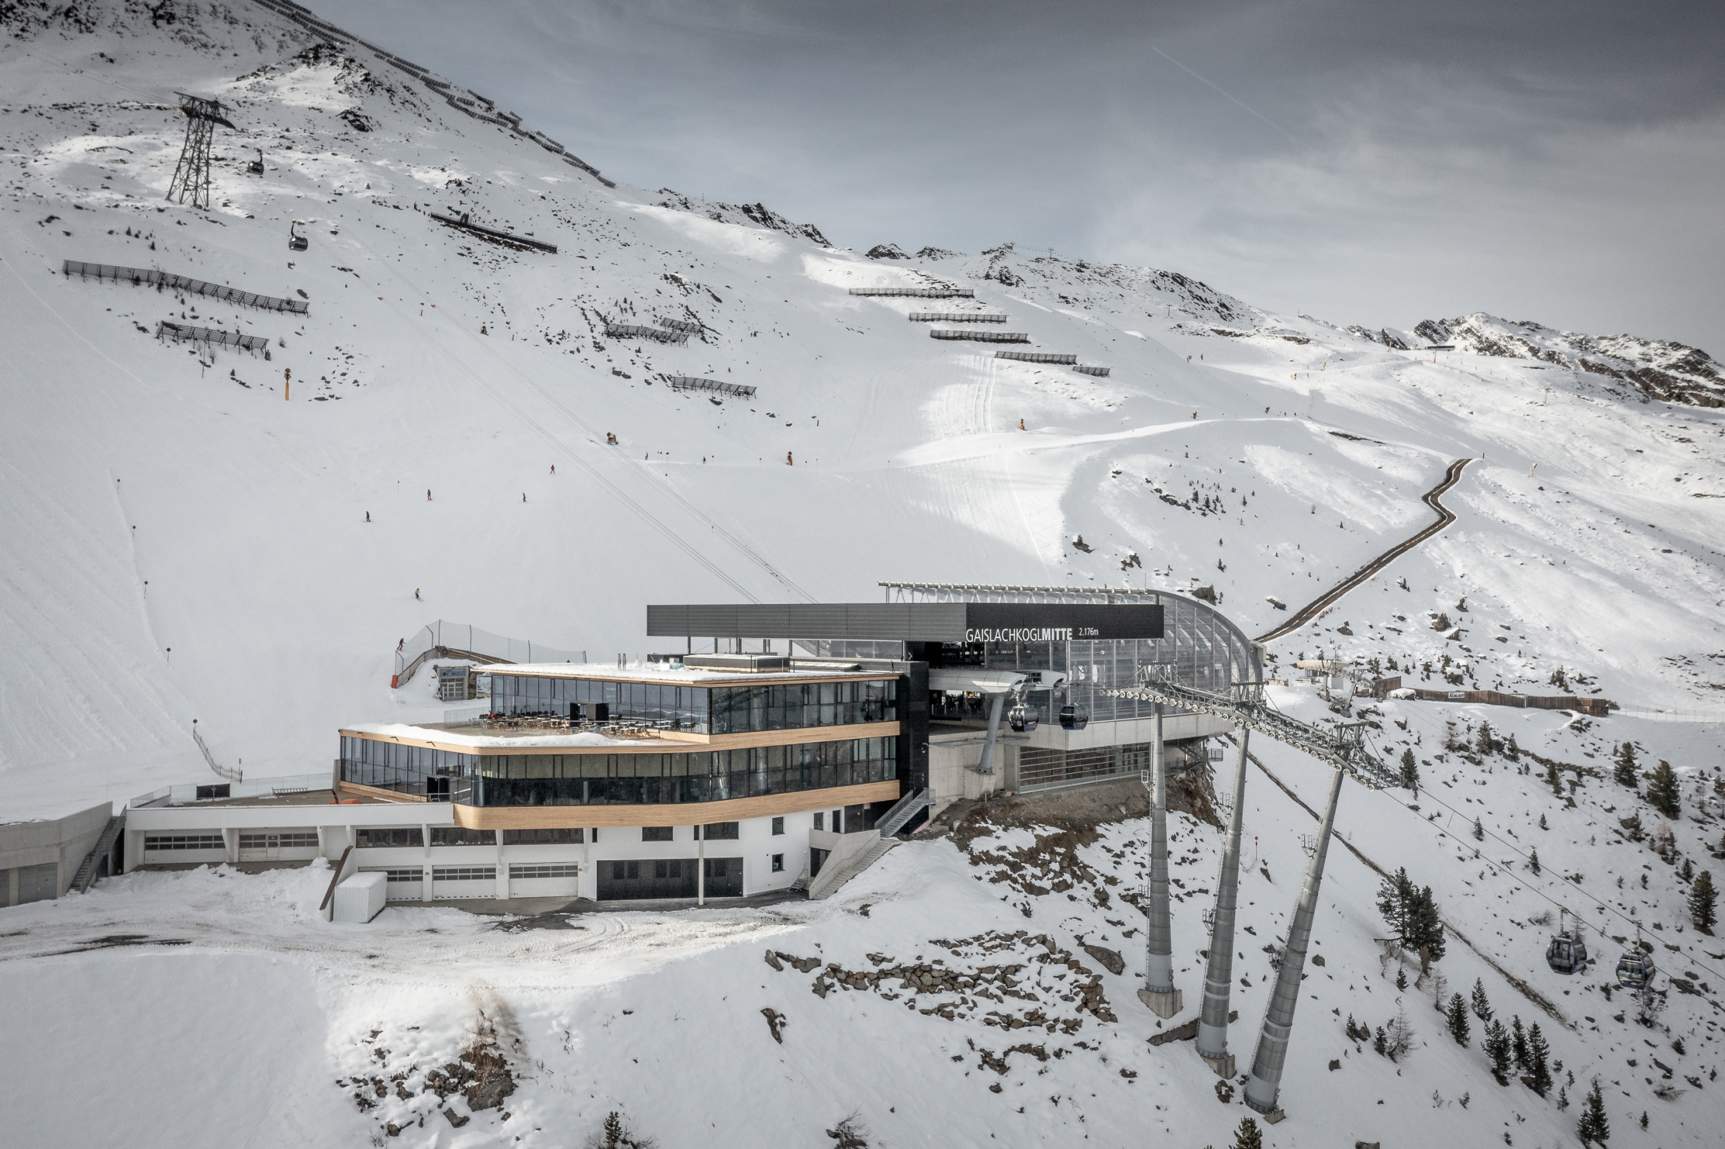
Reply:
[[[343,737],[342,780],[469,806],[721,802],[892,782],[897,744],[888,737],[666,754],[455,754]]]

